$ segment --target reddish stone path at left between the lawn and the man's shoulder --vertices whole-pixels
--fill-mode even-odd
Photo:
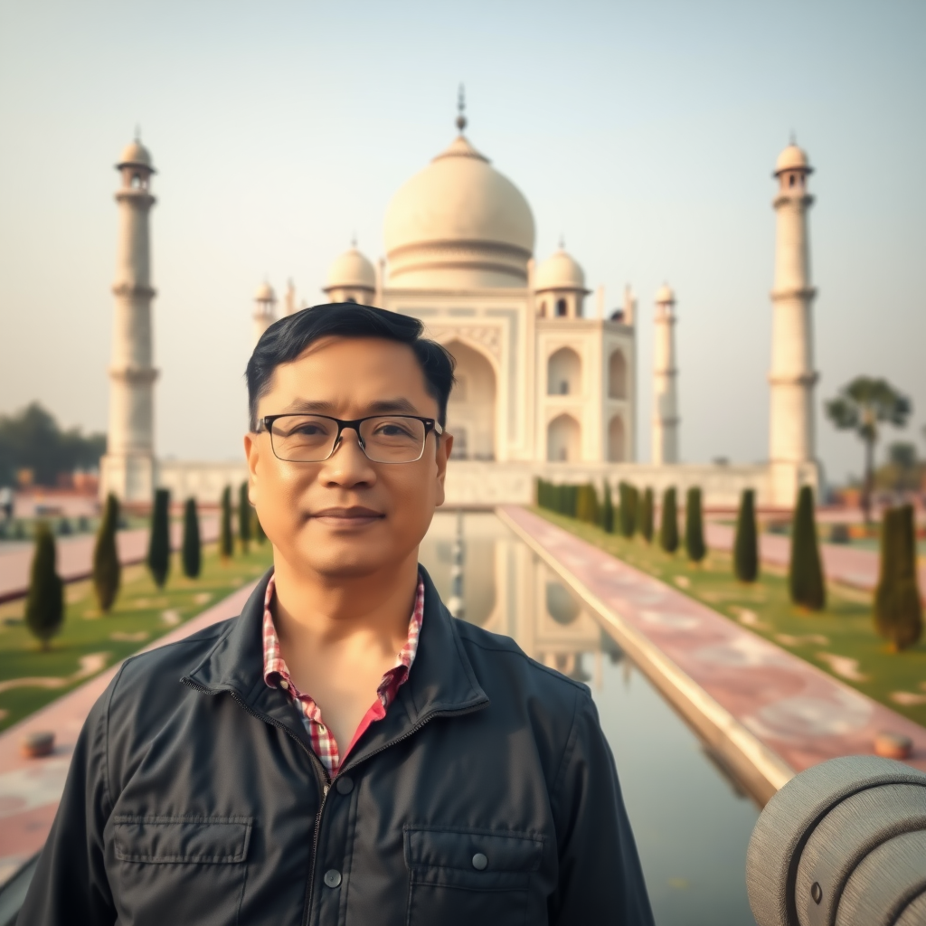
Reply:
[[[241,612],[256,584],[249,582],[146,649],[174,643],[219,620],[234,617]],[[0,733],[0,885],[44,845],[83,720],[116,675],[119,665]],[[25,734],[37,731],[55,732],[54,754],[23,758],[19,755],[19,741]]]

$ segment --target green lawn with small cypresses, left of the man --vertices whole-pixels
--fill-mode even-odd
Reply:
[[[270,561],[270,544],[251,544],[248,555],[227,563],[211,544],[198,579],[186,579],[174,555],[163,589],[144,566],[130,566],[122,569],[119,598],[108,615],[97,609],[90,582],[74,582],[67,586],[64,625],[47,652],[22,621],[25,603],[0,605],[0,730],[201,614],[263,573]],[[11,684],[19,679],[33,681]]]

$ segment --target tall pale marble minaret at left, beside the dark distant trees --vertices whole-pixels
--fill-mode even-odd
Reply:
[[[101,461],[100,492],[129,503],[150,503],[156,486],[152,365],[151,155],[136,138],[116,165],[121,186],[112,365],[109,368],[109,432]]]

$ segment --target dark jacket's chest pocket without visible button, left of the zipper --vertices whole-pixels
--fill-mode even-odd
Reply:
[[[133,926],[235,923],[244,892],[250,817],[114,819],[109,872],[119,920]]]

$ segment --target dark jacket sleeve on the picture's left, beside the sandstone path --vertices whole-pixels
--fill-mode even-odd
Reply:
[[[112,926],[116,921],[103,830],[112,809],[106,775],[108,707],[118,681],[117,675],[84,721],[18,926]]]

